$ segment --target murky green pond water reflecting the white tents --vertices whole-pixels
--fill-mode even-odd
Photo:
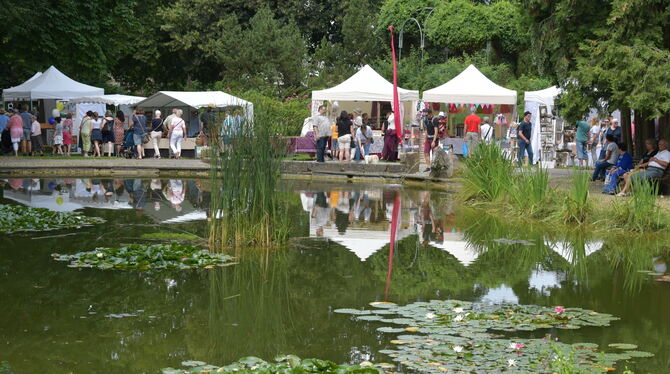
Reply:
[[[182,361],[245,356],[391,362],[377,322],[338,308],[432,299],[581,307],[621,320],[551,330],[565,342],[632,343],[670,365],[667,238],[546,233],[458,209],[447,192],[399,185],[282,182],[292,191],[287,248],[236,253],[238,264],[187,271],[73,269],[51,254],[141,241],[143,234],[206,237],[208,180],[21,179],[1,204],[77,211],[105,223],[3,234],[0,361],[15,373],[155,373]],[[401,211],[389,261],[390,218]],[[650,273],[651,272],[651,273]],[[539,337],[545,332],[527,333]]]

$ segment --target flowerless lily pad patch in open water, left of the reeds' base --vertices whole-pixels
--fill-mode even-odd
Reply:
[[[120,248],[97,248],[72,255],[54,253],[56,261],[68,261],[71,268],[102,270],[212,269],[234,264],[234,258],[210,253],[200,247],[169,244],[131,244]]]

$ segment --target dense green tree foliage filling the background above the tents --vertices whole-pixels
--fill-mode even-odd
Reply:
[[[25,0],[0,13],[0,87],[55,64],[108,91],[223,82],[282,99],[366,63],[390,77],[394,25],[404,34],[407,88],[434,87],[476,62],[520,92],[568,88],[569,120],[602,107],[632,110],[641,122],[670,112],[668,15],[665,0]]]

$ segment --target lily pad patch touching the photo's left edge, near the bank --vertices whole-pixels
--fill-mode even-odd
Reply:
[[[91,226],[105,222],[72,212],[54,212],[45,208],[0,204],[0,233],[47,231]]]

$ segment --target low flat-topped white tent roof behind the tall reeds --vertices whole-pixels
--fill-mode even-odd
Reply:
[[[137,106],[147,108],[191,107],[204,108],[213,106],[225,108],[241,106],[253,108],[253,104],[221,91],[160,91],[137,103]]]

